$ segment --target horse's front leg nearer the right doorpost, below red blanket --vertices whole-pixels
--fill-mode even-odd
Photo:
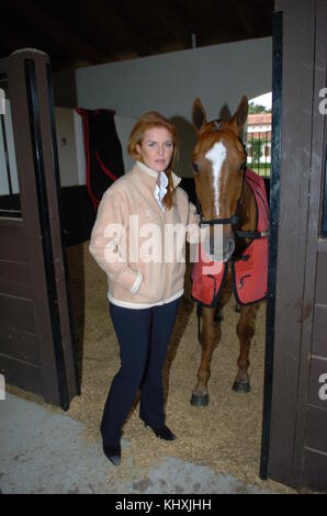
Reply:
[[[249,392],[250,381],[248,377],[249,352],[251,338],[256,332],[256,317],[260,303],[250,306],[240,307],[240,317],[236,326],[237,336],[239,338],[239,357],[237,359],[238,372],[233,384],[236,392]]]

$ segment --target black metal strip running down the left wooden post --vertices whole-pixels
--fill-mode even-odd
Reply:
[[[54,255],[50,236],[48,200],[46,193],[45,169],[43,159],[40,104],[36,89],[36,70],[33,59],[25,59],[25,79],[27,90],[27,102],[30,112],[30,127],[32,135],[32,148],[34,158],[35,186],[37,194],[40,225],[42,232],[42,246],[44,256],[44,267],[46,274],[47,295],[50,310],[50,324],[53,333],[54,352],[56,359],[56,369],[58,377],[58,391],[60,406],[68,410],[68,388],[65,373],[65,359],[63,351],[63,338],[60,329],[60,318],[58,310],[58,300],[56,292],[56,277],[54,268]]]

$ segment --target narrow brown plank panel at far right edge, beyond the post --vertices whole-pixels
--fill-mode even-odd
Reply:
[[[324,203],[327,109],[323,101],[327,77],[327,0],[316,0],[315,9],[313,137],[300,370],[303,380],[298,392],[304,402],[298,404],[295,469],[300,485],[327,491],[327,239],[323,231],[327,215]],[[307,357],[311,358],[308,367]]]

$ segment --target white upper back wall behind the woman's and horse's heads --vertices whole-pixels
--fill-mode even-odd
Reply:
[[[251,99],[271,91],[271,56],[272,38],[264,37],[79,68],[77,101],[81,108],[114,109],[117,116],[157,110],[172,119],[181,141],[176,171],[191,178],[195,97],[208,119],[233,114],[244,93]]]

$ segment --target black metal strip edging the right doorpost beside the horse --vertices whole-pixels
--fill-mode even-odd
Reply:
[[[268,292],[266,318],[266,354],[263,414],[261,435],[260,479],[269,475],[269,448],[273,381],[273,346],[275,318],[275,280],[278,258],[278,225],[280,206],[280,164],[281,164],[281,117],[282,117],[282,44],[283,13],[272,16],[272,132],[271,132],[271,175],[270,175],[270,237],[268,258]]]

